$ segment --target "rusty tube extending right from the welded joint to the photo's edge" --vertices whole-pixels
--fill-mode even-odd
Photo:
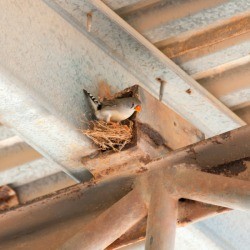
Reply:
[[[195,169],[194,165],[189,164],[167,167],[163,171],[164,186],[171,195],[250,211],[249,181],[204,173]]]

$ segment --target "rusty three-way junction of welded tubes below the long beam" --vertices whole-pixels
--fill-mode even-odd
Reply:
[[[154,178],[148,213],[146,249],[173,249],[179,198],[188,198],[232,209],[250,210],[250,182],[219,177],[192,169],[188,164],[154,170],[142,178]],[[143,181],[142,181],[143,183]],[[144,182],[145,183],[145,182]],[[223,185],[222,185],[223,183]],[[140,183],[141,185],[141,183]],[[146,189],[145,185],[142,185]],[[67,241],[62,249],[104,249],[145,217],[145,201],[134,189]],[[112,224],[110,225],[110,221]]]

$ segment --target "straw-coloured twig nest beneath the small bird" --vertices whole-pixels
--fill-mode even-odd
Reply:
[[[89,137],[102,151],[121,151],[132,140],[133,122],[127,120],[127,124],[121,124],[90,121],[89,128],[83,130],[83,134]]]

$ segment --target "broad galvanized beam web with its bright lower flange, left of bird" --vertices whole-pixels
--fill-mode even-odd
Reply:
[[[25,11],[21,12],[19,7]],[[79,131],[83,127],[83,113],[88,112],[81,89],[91,82],[97,86],[100,80],[130,85],[136,81],[133,77],[129,79],[126,71],[105,53],[91,56],[96,46],[44,3],[25,1],[19,6],[15,1],[2,2],[1,9],[2,30],[6,36],[1,40],[5,49],[0,53],[7,68],[1,69],[1,120],[15,127],[40,153],[82,180],[83,177],[77,175],[88,172],[82,167],[80,157],[93,150]],[[19,41],[18,48],[11,42],[15,39]],[[90,47],[87,48],[87,44]],[[98,62],[113,66],[101,71],[95,68]],[[117,70],[121,73],[119,76]]]

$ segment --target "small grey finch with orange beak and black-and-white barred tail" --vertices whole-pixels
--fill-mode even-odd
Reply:
[[[107,123],[121,122],[128,119],[134,112],[141,111],[141,101],[136,97],[116,98],[100,102],[86,89],[83,89],[83,92],[89,97],[96,118]]]

